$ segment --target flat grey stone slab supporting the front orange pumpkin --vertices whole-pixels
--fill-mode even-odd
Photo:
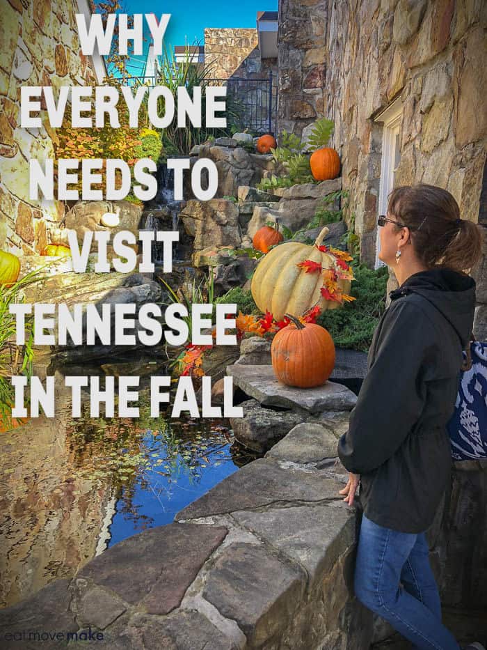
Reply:
[[[356,405],[357,396],[346,386],[327,381],[316,388],[296,388],[281,384],[272,366],[227,366],[227,375],[249,397],[262,406],[300,408],[310,413],[322,411],[350,411]]]

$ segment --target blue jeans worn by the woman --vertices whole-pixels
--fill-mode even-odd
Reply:
[[[441,622],[440,596],[428,553],[424,533],[401,533],[362,516],[355,594],[410,640],[415,650],[459,650]]]

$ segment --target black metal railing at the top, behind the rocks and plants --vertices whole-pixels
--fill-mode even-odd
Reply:
[[[227,86],[227,98],[232,98],[239,116],[244,122],[242,127],[256,133],[271,133],[276,124],[277,86],[275,77],[269,71],[266,79],[246,79],[230,77],[229,79],[206,79],[213,86]],[[128,86],[145,84],[155,86],[156,77],[129,77]]]

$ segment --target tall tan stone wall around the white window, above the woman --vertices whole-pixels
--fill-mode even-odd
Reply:
[[[464,219],[479,219],[486,24],[481,0],[280,0],[278,130],[301,135],[321,116],[334,119],[330,144],[340,153],[367,265],[376,256],[381,176],[383,127],[374,118],[396,98],[395,183],[445,187]]]

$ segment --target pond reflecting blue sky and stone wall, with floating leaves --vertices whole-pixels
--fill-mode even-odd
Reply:
[[[132,365],[142,378],[162,373],[153,361]],[[115,374],[117,364],[98,371]],[[86,399],[73,419],[67,390],[56,385],[55,419],[33,418],[0,436],[0,607],[72,577],[122,539],[171,523],[257,458],[225,419],[151,419],[145,389],[138,419],[90,418]]]

